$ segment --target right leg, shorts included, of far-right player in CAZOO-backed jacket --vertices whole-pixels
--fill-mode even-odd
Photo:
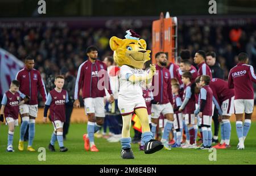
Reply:
[[[245,123],[243,124],[243,141],[251,127],[251,115],[253,115],[254,100],[245,100]]]

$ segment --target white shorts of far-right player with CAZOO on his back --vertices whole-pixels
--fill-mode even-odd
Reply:
[[[235,114],[251,114],[253,113],[254,100],[237,99],[234,100]]]

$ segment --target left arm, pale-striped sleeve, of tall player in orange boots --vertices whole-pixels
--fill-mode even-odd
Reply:
[[[82,66],[79,66],[79,71],[77,72],[77,78],[76,78],[76,86],[75,86],[75,95],[74,95],[74,106],[76,108],[80,108],[80,102],[79,102],[79,92],[82,87],[82,82],[84,81],[84,72],[82,71]]]

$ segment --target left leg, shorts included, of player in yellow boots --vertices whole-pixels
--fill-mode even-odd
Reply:
[[[19,146],[18,146],[19,151],[24,150],[24,135],[26,133],[28,122],[30,120],[29,110],[30,110],[29,105],[23,104],[19,106],[19,113],[21,114],[21,117],[22,117],[22,124],[20,125]]]

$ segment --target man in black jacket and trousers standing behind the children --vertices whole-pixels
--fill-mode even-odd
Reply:
[[[213,51],[208,52],[207,54],[207,65],[210,67],[210,71],[212,71],[212,78],[220,78],[224,79],[224,70],[220,67],[220,64],[216,62],[216,53]],[[213,114],[213,122],[214,122],[214,135],[212,142],[218,143],[218,128],[220,126],[220,122],[218,122],[218,111],[214,108]]]

